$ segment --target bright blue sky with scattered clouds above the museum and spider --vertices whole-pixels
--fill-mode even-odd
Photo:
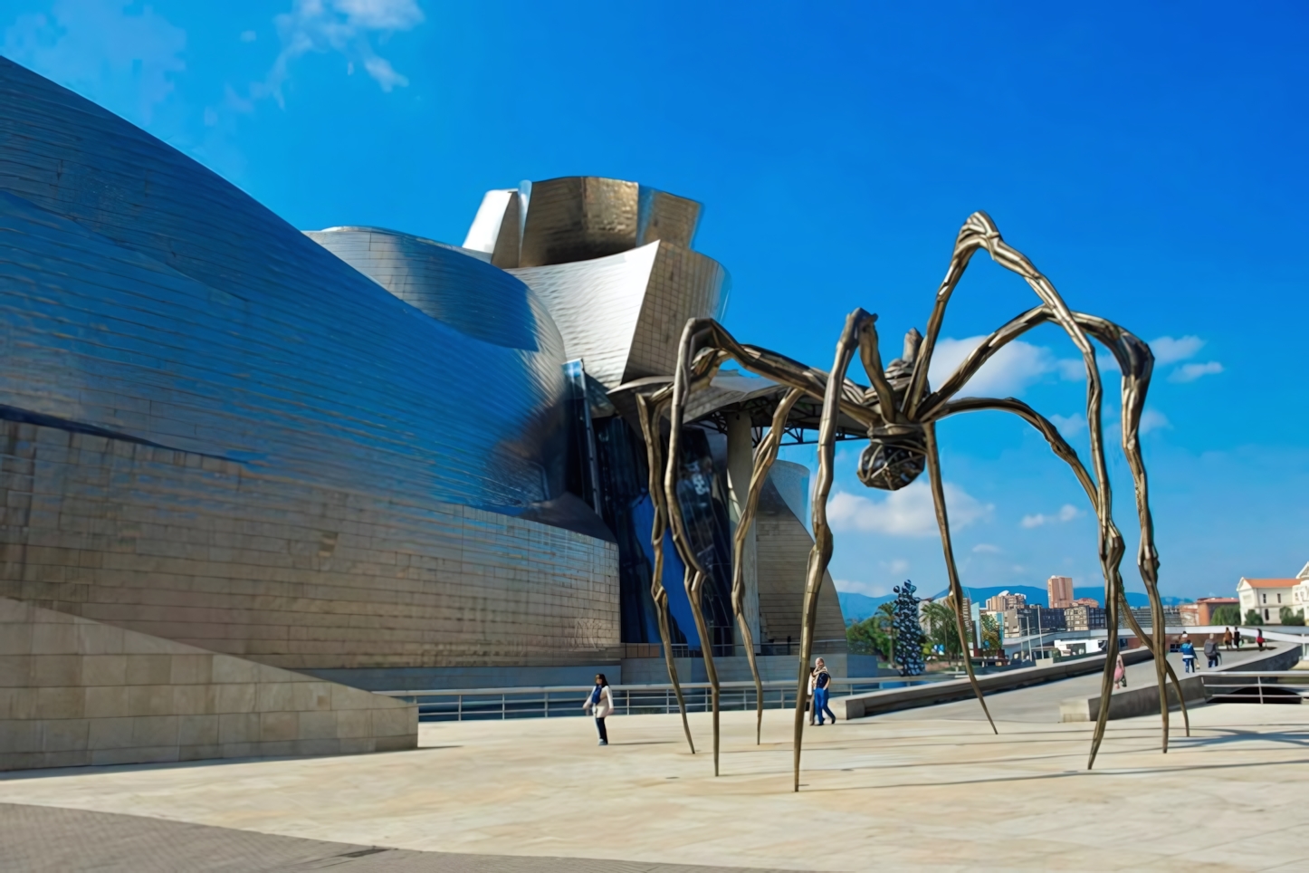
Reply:
[[[1309,12],[1064,7],[5,0],[0,51],[300,228],[461,242],[484,190],[568,174],[695,198],[696,247],[733,276],[728,327],[825,369],[855,306],[893,348],[922,329],[959,224],[986,209],[1075,309],[1156,348],[1164,592],[1293,575],[1309,560]],[[942,357],[1033,301],[979,257]],[[1060,416],[1085,453],[1072,346],[1026,340],[979,391]],[[965,585],[1098,584],[1085,500],[1038,436],[997,414],[940,432]],[[843,446],[833,504],[839,586],[942,588],[925,492],[867,491],[856,454]],[[1111,471],[1130,571],[1117,455]]]

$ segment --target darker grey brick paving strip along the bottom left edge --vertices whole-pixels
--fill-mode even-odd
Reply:
[[[351,846],[139,815],[0,804],[0,870],[25,873],[770,873]],[[772,872],[780,873],[780,872]]]

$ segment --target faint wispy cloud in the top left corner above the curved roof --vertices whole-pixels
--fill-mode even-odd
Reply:
[[[186,31],[131,0],[55,0],[20,16],[0,54],[147,126],[186,69]]]

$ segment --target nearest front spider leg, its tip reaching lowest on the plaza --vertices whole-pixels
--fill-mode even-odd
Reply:
[[[856,309],[846,318],[846,329],[836,342],[836,359],[833,361],[823,394],[822,419],[818,424],[818,482],[813,496],[814,544],[809,551],[809,575],[805,579],[805,605],[800,630],[800,671],[796,678],[796,724],[792,745],[795,770],[795,791],[800,791],[800,743],[805,729],[805,696],[809,683],[809,658],[813,657],[814,626],[818,623],[818,593],[831,561],[831,527],[827,525],[827,495],[831,493],[833,463],[836,454],[836,425],[840,415],[842,386],[846,383],[846,370],[850,360],[859,351],[859,335],[865,325],[872,323],[872,315]]]

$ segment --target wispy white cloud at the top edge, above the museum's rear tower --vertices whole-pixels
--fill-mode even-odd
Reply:
[[[411,30],[423,22],[415,0],[293,0],[291,12],[274,18],[281,38],[281,52],[260,85],[257,97],[271,96],[284,105],[283,85],[291,77],[292,62],[309,52],[334,51],[346,58],[347,71],[356,64],[381,85],[384,92],[408,85],[408,79],[373,48],[373,38]]]

